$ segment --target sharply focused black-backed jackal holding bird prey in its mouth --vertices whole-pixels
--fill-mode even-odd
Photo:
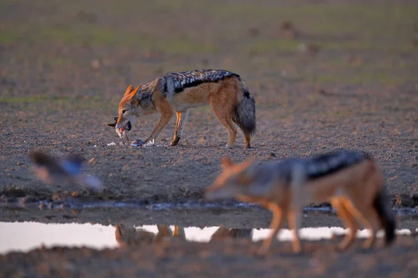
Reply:
[[[237,124],[245,136],[245,148],[251,147],[251,134],[256,131],[256,106],[245,81],[226,70],[192,70],[170,72],[134,89],[130,85],[119,104],[115,118],[116,132],[124,140],[137,117],[160,113],[150,137],[153,141],[176,115],[176,129],[170,145],[177,145],[182,136],[189,108],[212,106],[212,111],[229,132],[226,147],[235,142]],[[126,136],[127,137],[127,136]]]

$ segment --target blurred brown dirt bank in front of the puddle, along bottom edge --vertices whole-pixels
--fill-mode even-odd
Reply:
[[[341,240],[341,239],[338,239]],[[274,243],[271,253],[254,254],[259,243],[235,239],[212,243],[171,241],[116,250],[42,248],[0,256],[2,277],[416,277],[417,242],[364,251],[356,244],[334,251],[336,240],[304,241],[305,252]],[[414,247],[412,247],[412,246]]]

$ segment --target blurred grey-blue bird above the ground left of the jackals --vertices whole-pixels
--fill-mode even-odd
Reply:
[[[31,152],[29,156],[35,164],[36,176],[42,181],[64,186],[77,185],[94,190],[103,189],[100,179],[82,175],[84,158],[81,156],[70,154],[61,163],[43,152]]]

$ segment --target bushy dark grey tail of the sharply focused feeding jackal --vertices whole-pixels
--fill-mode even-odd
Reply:
[[[240,80],[241,99],[235,108],[235,124],[240,126],[244,133],[253,134],[256,132],[256,101],[249,93],[247,85]]]

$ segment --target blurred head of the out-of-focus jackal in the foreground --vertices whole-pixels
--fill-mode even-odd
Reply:
[[[209,200],[251,196],[251,188],[258,186],[258,163],[254,157],[242,163],[234,164],[229,157],[222,158],[223,171],[206,189]]]

